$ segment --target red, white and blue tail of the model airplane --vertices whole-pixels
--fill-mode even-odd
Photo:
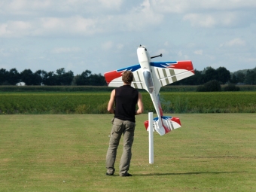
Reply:
[[[144,122],[146,130],[148,130],[148,120]],[[162,116],[159,120],[158,117],[153,119],[153,128],[160,136],[169,133],[171,130],[175,130],[181,127],[181,121],[178,117]]]

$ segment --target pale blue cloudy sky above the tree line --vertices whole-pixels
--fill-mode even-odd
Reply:
[[[153,61],[256,67],[255,0],[0,0],[0,69],[104,74]]]

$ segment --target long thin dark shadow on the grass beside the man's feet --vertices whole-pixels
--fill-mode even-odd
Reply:
[[[173,173],[147,173],[147,174],[134,174],[136,176],[164,176],[164,175],[200,175],[200,174],[226,174],[237,172],[173,172]]]

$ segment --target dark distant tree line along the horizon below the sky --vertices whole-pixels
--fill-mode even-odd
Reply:
[[[177,81],[172,85],[201,85],[209,81],[216,80],[220,84],[256,84],[256,67],[254,69],[239,70],[231,73],[224,67],[213,69],[207,67],[203,71],[194,70],[195,75]],[[15,85],[24,82],[26,85],[106,85],[105,78],[101,74],[93,74],[90,70],[85,70],[81,75],[74,75],[72,71],[66,72],[64,68],[57,69],[56,72],[46,72],[38,70],[32,72],[25,69],[18,72],[17,69],[0,69],[0,85]]]

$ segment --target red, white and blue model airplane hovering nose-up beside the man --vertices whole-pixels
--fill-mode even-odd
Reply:
[[[163,116],[159,96],[160,87],[194,75],[193,64],[191,61],[151,62],[151,59],[157,56],[151,57],[146,47],[142,45],[137,49],[137,55],[138,65],[106,72],[104,74],[105,80],[109,87],[120,87],[123,85],[122,73],[126,70],[133,72],[134,80],[131,86],[145,89],[150,94],[157,112],[157,117],[154,118],[153,123],[154,130],[163,136],[171,130],[181,127],[181,122],[178,117]],[[148,120],[145,121],[145,127],[148,129]]]

